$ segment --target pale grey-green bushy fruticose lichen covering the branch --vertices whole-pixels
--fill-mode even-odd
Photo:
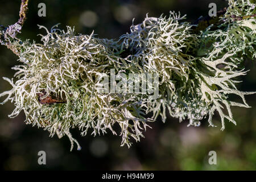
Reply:
[[[139,141],[148,122],[158,115],[166,120],[166,108],[172,117],[189,119],[193,126],[200,125],[203,118],[214,126],[212,117],[217,111],[224,130],[225,119],[236,124],[230,106],[249,107],[245,95],[254,93],[237,90],[236,78],[246,75],[240,67],[242,61],[256,58],[255,18],[234,21],[233,14],[255,14],[255,4],[230,0],[220,25],[199,33],[193,32],[195,25],[184,22],[185,16],[170,12],[168,18],[146,17],[143,23],[133,24],[130,33],[119,40],[53,27],[42,35],[42,44],[13,41],[23,64],[13,68],[16,81],[4,78],[13,88],[0,94],[7,95],[1,104],[14,102],[10,118],[23,110],[27,124],[43,127],[51,136],[68,135],[72,147],[77,141],[69,129],[77,127],[81,135],[89,129],[93,135],[108,130],[117,134],[113,125],[121,128],[121,146],[130,147],[130,138]],[[159,97],[152,100],[142,93],[99,92],[100,78],[109,76],[111,69],[127,77],[129,73],[158,75]],[[240,96],[242,103],[230,101],[230,94]],[[63,102],[42,104],[39,96]],[[148,113],[152,117],[145,118]]]

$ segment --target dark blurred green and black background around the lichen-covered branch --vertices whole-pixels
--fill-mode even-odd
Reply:
[[[0,1],[0,24],[7,26],[18,19],[20,1]],[[46,3],[46,17],[38,16],[38,4]],[[37,24],[51,28],[57,23],[60,28],[75,26],[76,32],[90,34],[93,30],[100,38],[118,38],[129,32],[132,19],[141,23],[147,13],[149,16],[168,15],[170,10],[187,14],[189,22],[200,15],[207,15],[210,2],[217,9],[227,5],[221,0],[148,0],[148,1],[103,1],[103,0],[55,0],[31,1],[28,19],[24,24],[22,39],[40,42],[38,34],[44,34]],[[2,77],[13,77],[11,69],[19,64],[15,56],[6,47],[0,46],[0,92],[11,86]],[[246,61],[247,76],[238,86],[243,91],[256,90],[256,65]],[[234,98],[236,100],[236,98]],[[118,169],[118,170],[255,170],[256,169],[256,94],[246,97],[250,109],[233,107],[237,126],[226,122],[225,131],[221,131],[220,118],[216,114],[214,123],[218,127],[208,127],[203,121],[200,127],[187,127],[188,122],[179,123],[177,119],[160,118],[150,123],[152,129],[144,133],[146,138],[134,143],[130,149],[120,147],[121,138],[106,134],[93,137],[88,134],[80,137],[79,131],[72,131],[79,140],[82,150],[69,152],[68,137],[49,138],[49,133],[25,125],[24,114],[14,119],[7,117],[14,109],[8,102],[0,106],[0,164],[2,170],[33,169]],[[38,164],[38,151],[46,151],[46,165]],[[209,151],[217,152],[217,165],[209,165]]]

